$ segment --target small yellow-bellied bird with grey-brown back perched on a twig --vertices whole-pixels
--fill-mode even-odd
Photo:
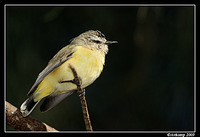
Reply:
[[[22,116],[28,116],[43,98],[40,106],[42,112],[53,108],[76,91],[69,65],[76,69],[83,88],[92,84],[103,70],[108,45],[113,43],[117,41],[107,41],[104,34],[98,30],[86,31],[72,39],[38,75],[27,94],[28,99],[20,107]]]

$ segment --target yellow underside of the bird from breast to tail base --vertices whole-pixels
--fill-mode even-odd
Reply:
[[[97,50],[90,50],[81,46],[76,48],[77,50],[73,53],[72,58],[55,68],[38,85],[37,91],[34,93],[34,101],[38,101],[51,93],[62,94],[77,88],[75,84],[70,82],[59,83],[59,81],[74,79],[69,64],[76,69],[81,77],[83,88],[92,84],[99,77],[103,70],[105,55]]]

